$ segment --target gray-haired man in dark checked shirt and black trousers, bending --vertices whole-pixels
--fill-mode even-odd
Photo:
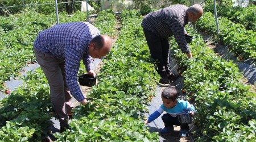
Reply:
[[[203,15],[203,8],[199,4],[187,7],[172,5],[164,9],[150,12],[142,21],[144,35],[150,49],[152,59],[156,61],[160,83],[170,83],[177,78],[169,69],[169,41],[174,36],[181,51],[192,58],[192,53],[185,40],[187,31],[184,29],[188,22],[196,22]]]

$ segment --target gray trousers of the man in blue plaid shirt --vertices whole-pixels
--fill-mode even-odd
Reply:
[[[36,49],[34,52],[36,61],[48,80],[51,101],[60,121],[60,127],[64,127],[68,123],[68,114],[71,114],[73,108],[71,94],[65,81],[65,61]]]

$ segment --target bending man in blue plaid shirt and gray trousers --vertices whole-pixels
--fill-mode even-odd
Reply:
[[[93,58],[101,59],[111,48],[112,39],[100,35],[100,31],[88,22],[57,24],[36,37],[36,60],[47,77],[61,131],[69,128],[68,115],[73,108],[71,94],[82,105],[87,102],[77,83],[80,61],[83,60],[87,73],[95,77]]]

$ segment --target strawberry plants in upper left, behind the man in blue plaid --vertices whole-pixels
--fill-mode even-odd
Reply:
[[[0,83],[11,77],[20,76],[23,66],[28,61],[35,61],[32,44],[38,33],[52,25],[53,16],[36,12],[27,15],[17,14],[10,17],[0,17],[1,53],[0,53]],[[3,87],[1,86],[2,90]]]

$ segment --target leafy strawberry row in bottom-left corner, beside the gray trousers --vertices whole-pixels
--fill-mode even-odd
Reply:
[[[23,85],[0,102],[0,139],[41,141],[52,116],[49,86],[41,69],[23,77]]]

